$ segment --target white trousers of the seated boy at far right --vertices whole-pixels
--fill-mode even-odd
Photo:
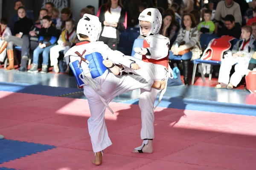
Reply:
[[[233,73],[230,78],[230,70],[234,64],[236,64],[235,73]],[[242,57],[233,58],[230,56],[223,59],[221,62],[218,82],[222,82],[224,84],[228,84],[230,82],[233,86],[236,87],[246,74],[248,65],[249,59],[243,59]]]

